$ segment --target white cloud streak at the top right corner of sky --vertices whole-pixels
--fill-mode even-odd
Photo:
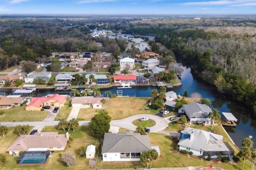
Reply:
[[[219,1],[201,1],[201,2],[187,2],[179,5],[234,5],[234,4],[249,4],[256,3],[256,0],[219,0]]]

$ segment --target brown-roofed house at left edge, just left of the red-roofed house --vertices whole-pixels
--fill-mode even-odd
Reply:
[[[11,108],[20,107],[22,103],[26,101],[26,98],[20,97],[18,95],[12,96],[0,96],[0,108]]]

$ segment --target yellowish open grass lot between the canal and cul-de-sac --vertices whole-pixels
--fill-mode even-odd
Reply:
[[[107,99],[103,109],[108,111],[108,114],[111,116],[111,120],[119,120],[138,114],[158,113],[157,110],[153,109],[144,110],[148,99],[149,98],[138,97]],[[81,118],[82,120],[91,120],[91,117],[97,114],[97,111],[99,111],[99,109],[81,108],[78,114],[78,118]]]

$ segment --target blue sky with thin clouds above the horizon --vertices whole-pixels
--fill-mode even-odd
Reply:
[[[256,14],[256,0],[0,0],[0,14]]]

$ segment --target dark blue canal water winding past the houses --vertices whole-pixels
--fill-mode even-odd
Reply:
[[[237,118],[236,128],[225,128],[236,143],[238,147],[241,147],[242,139],[252,135],[254,143],[256,143],[256,121],[255,118],[250,117],[250,109],[242,107],[243,104],[237,104],[229,99],[223,98],[216,89],[205,82],[196,80],[190,73],[190,68],[184,67],[184,72],[181,75],[182,86],[174,87],[172,89],[177,94],[183,95],[187,90],[189,94],[193,92],[199,92],[203,98],[209,98],[212,101],[212,107],[219,109],[221,112],[231,112]],[[117,90],[123,90],[124,96],[136,96],[136,97],[150,97],[150,91],[157,89],[156,87],[133,87],[132,89],[117,89],[108,88],[102,89],[105,91],[110,90],[112,93],[117,93]],[[47,94],[54,94],[54,90],[39,90],[35,96],[46,96]],[[0,95],[9,95],[12,91],[0,91]],[[68,92],[69,94],[69,92]]]

